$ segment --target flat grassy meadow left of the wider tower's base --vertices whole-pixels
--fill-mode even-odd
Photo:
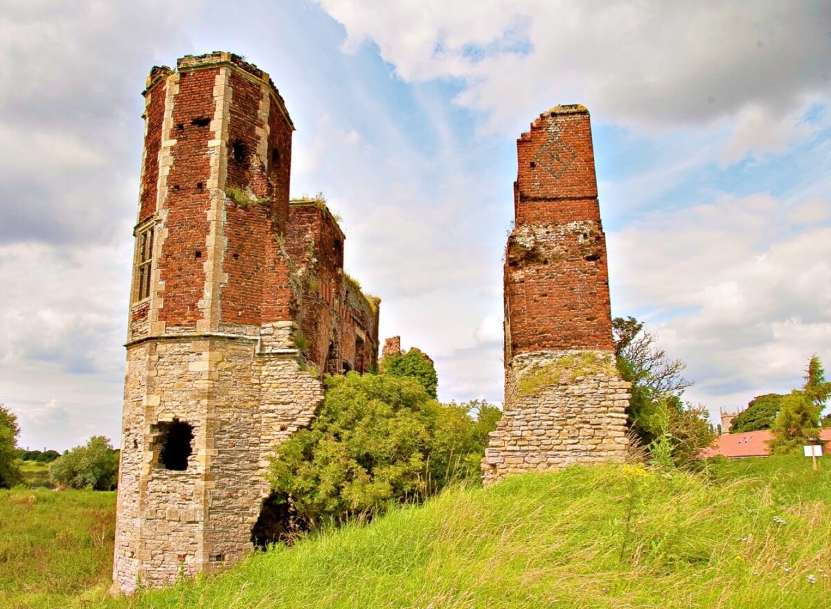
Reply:
[[[0,607],[83,607],[110,584],[115,493],[0,490]]]

